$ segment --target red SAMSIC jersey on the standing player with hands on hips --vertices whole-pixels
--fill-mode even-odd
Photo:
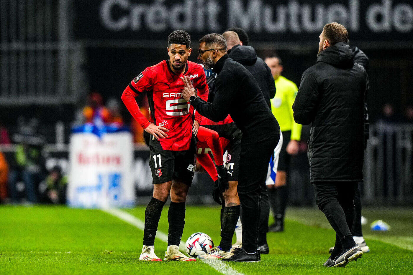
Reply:
[[[181,76],[188,75],[200,98],[207,101],[208,85],[202,66],[187,61],[185,73],[177,75],[172,71],[168,60],[147,67],[126,87],[122,100],[132,116],[145,129],[150,122],[140,113],[135,97],[147,92],[151,111],[151,122],[169,129],[168,137],[159,139],[164,150],[188,150],[192,138],[194,108],[182,98],[184,83]],[[143,118],[142,118],[143,117]],[[201,122],[202,115],[195,114]]]

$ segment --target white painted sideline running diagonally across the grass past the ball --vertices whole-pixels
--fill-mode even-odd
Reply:
[[[130,223],[131,225],[139,228],[142,231],[145,229],[145,223],[143,221],[141,221],[140,219],[136,218],[135,216],[127,212],[124,212],[119,209],[114,209],[114,208],[106,208],[102,210],[113,216],[118,217],[122,221],[126,221],[127,223]],[[163,242],[166,242],[166,243],[168,242],[168,235],[166,235],[165,233],[159,230],[156,233],[156,237]],[[179,250],[185,251],[185,243],[183,241],[181,241],[179,244]],[[228,275],[244,275],[243,273],[237,272],[236,270],[228,266],[223,261],[212,260],[212,259],[202,259],[202,261],[206,263],[207,265],[209,265],[211,268],[214,268],[219,273],[228,274]]]

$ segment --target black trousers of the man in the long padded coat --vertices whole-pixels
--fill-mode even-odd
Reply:
[[[354,220],[354,194],[357,188],[357,181],[314,182],[316,204],[342,242],[347,237],[352,237],[350,229]]]

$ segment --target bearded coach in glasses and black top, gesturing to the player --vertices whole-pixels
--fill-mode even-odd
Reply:
[[[237,186],[242,206],[242,247],[235,249],[233,256],[223,261],[260,261],[256,250],[260,185],[265,184],[268,162],[280,139],[280,126],[252,74],[229,58],[226,50],[227,43],[220,34],[207,34],[199,40],[198,58],[204,68],[212,68],[218,75],[214,102],[197,98],[188,77],[184,78],[182,97],[210,120],[221,121],[229,113],[242,132]],[[222,192],[225,190],[220,189]]]

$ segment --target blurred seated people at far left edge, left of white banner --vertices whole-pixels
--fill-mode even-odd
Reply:
[[[38,133],[39,121],[20,117],[17,124],[12,138],[7,129],[1,129],[2,145],[14,143],[15,147],[7,157],[0,150],[0,202],[65,203],[67,178],[59,166],[50,171],[45,167],[45,139]]]

